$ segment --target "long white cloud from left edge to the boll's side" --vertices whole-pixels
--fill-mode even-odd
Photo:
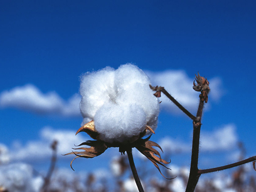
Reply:
[[[32,84],[15,87],[0,94],[2,108],[17,108],[39,114],[80,116],[79,102],[78,94],[66,102],[57,93],[42,93]]]

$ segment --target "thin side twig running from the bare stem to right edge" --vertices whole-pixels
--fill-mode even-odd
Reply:
[[[243,165],[245,163],[249,163],[251,161],[256,161],[256,156],[250,157],[248,159],[245,159],[245,160],[242,160],[242,161],[239,161],[236,163],[220,166],[220,167],[201,169],[201,170],[198,170],[198,174],[201,175],[201,174],[207,174],[207,173],[212,173],[212,172],[218,172],[219,170],[225,170],[228,168],[237,167],[237,166]]]

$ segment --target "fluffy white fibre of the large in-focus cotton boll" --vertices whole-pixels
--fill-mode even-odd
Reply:
[[[146,125],[155,130],[159,102],[150,83],[145,73],[131,64],[84,74],[80,84],[82,125],[94,120],[100,139],[106,142],[129,141]]]

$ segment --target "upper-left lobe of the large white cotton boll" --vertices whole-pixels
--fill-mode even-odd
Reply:
[[[115,98],[114,76],[114,69],[107,67],[98,72],[86,73],[81,77],[80,111],[84,121],[92,120],[104,103]]]

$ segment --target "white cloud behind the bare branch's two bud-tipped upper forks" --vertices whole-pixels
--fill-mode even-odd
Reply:
[[[194,91],[193,81],[195,79],[189,78],[183,70],[167,70],[162,72],[146,71],[146,74],[150,77],[153,86],[162,86],[168,93],[176,98],[185,108],[190,111],[195,111],[198,107],[199,93]],[[218,77],[209,79],[210,82],[210,94],[209,102],[211,98],[214,101],[218,101],[223,95],[222,82]],[[162,96],[161,105],[166,111],[177,112],[179,111],[167,97]]]

